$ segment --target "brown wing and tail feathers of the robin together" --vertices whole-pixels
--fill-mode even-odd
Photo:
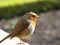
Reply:
[[[23,21],[23,20],[22,20],[22,21]],[[25,21],[25,20],[24,20],[24,21]],[[28,23],[27,21],[22,22],[22,23],[20,23],[20,21],[19,21],[19,22],[15,25],[12,33],[10,33],[7,37],[5,37],[4,39],[2,39],[2,40],[0,41],[0,43],[1,43],[2,41],[4,41],[5,39],[9,38],[9,37],[10,37],[10,39],[12,39],[12,38],[15,37],[15,36],[19,36],[20,33],[22,33],[28,26],[29,26],[29,23]]]

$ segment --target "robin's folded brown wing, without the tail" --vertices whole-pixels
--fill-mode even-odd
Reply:
[[[16,26],[14,27],[12,33],[10,34],[11,38],[22,33],[25,29],[27,29],[29,27],[29,25],[30,25],[30,23],[27,21],[24,21],[22,23],[18,22],[16,24]]]

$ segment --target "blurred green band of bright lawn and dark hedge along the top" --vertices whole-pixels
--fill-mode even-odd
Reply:
[[[0,19],[21,16],[28,11],[36,13],[60,9],[60,0],[0,0]]]

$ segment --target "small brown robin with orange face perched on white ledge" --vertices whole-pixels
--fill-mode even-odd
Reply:
[[[12,32],[4,39],[2,39],[0,43],[2,43],[7,38],[10,39],[14,37],[18,37],[19,39],[29,38],[35,31],[38,17],[39,17],[38,14],[32,11],[25,13],[19,19],[15,27],[12,29]]]

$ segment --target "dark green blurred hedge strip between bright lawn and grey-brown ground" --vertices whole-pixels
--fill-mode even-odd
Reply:
[[[58,1],[59,2],[59,1]],[[11,18],[28,11],[42,12],[52,9],[60,9],[60,3],[52,1],[36,1],[25,4],[16,4],[6,7],[0,7],[0,18]]]

